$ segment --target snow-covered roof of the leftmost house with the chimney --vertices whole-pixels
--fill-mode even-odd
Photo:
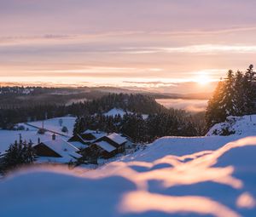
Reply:
[[[70,157],[82,157],[81,155],[79,155],[79,153],[77,153],[79,149],[65,140],[47,140],[44,141],[43,144],[45,146],[48,146],[51,150],[55,151],[59,155],[61,155],[61,157],[67,159]]]

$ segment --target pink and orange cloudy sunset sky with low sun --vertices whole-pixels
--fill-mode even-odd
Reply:
[[[0,83],[212,91],[256,60],[253,0],[0,0]]]

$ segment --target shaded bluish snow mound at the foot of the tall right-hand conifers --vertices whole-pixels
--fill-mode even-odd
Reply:
[[[207,133],[210,135],[255,135],[256,134],[256,115],[243,117],[227,117],[226,122],[215,124]]]

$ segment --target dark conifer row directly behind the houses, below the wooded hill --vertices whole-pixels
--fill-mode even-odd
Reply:
[[[174,109],[151,113],[148,117],[139,113],[126,113],[123,117],[103,114],[78,117],[73,134],[81,134],[86,129],[125,134],[137,143],[152,142],[163,136],[195,136],[205,133],[204,126],[196,122],[192,115]]]

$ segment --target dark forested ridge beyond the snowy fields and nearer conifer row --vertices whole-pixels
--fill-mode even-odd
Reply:
[[[143,94],[94,94],[96,99],[73,103],[71,105],[49,104],[33,105],[26,102],[26,106],[14,106],[0,109],[0,128],[11,129],[15,123],[39,121],[46,118],[72,115],[92,115],[109,111],[119,107],[128,111],[140,113],[154,113],[165,111],[152,97]],[[101,96],[101,97],[98,97]]]

